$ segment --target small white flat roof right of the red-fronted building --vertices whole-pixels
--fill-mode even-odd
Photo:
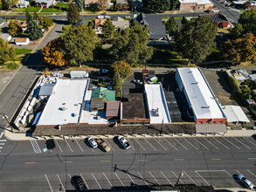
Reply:
[[[246,117],[246,113],[242,110],[240,106],[223,106],[227,121],[230,122],[250,122]]]

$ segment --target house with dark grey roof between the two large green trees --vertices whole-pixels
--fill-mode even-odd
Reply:
[[[165,25],[161,17],[146,17],[141,13],[137,16],[134,14],[134,21],[139,22],[142,26],[149,26],[149,40],[164,40],[166,38]]]

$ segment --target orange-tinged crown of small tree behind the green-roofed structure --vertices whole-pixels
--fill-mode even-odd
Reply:
[[[111,65],[111,70],[113,73],[118,72],[120,74],[121,79],[127,79],[128,76],[132,73],[132,67],[128,65],[127,62],[115,61],[113,65]]]

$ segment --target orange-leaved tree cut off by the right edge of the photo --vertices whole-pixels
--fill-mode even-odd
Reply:
[[[225,43],[224,57],[233,61],[256,62],[256,38],[252,33],[246,33],[242,38]]]

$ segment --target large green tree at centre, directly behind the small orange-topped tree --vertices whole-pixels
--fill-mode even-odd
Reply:
[[[115,60],[125,60],[130,65],[144,64],[153,55],[153,48],[148,47],[149,28],[138,22],[121,31],[114,38],[110,53]]]

